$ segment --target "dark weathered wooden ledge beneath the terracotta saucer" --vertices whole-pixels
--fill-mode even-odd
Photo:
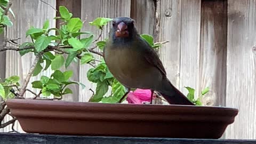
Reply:
[[[220,139],[172,139],[172,138],[125,138],[125,137],[86,137],[44,134],[0,133],[0,144],[253,144],[255,140],[220,140]]]

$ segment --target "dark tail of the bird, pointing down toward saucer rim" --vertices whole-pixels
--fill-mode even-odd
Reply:
[[[163,79],[162,86],[157,91],[172,105],[194,105],[167,78]]]

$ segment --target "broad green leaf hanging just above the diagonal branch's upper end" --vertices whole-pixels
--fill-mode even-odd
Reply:
[[[44,36],[44,35],[39,36],[36,39],[36,42],[35,42],[36,51],[37,52],[43,51],[51,43],[51,41],[52,41],[51,37],[47,37],[47,36]]]

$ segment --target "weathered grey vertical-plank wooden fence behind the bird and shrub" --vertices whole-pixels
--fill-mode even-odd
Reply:
[[[256,139],[256,1],[255,0],[44,0],[59,7],[65,5],[75,17],[86,20],[83,30],[98,33],[87,22],[97,17],[131,17],[140,33],[154,35],[156,42],[170,41],[160,50],[167,77],[183,93],[184,86],[196,94],[209,86],[205,105],[239,109],[235,123],[228,127],[225,138]],[[25,32],[30,26],[42,27],[58,14],[39,0],[15,0],[12,10],[14,26],[7,37],[29,41]],[[108,35],[109,26],[103,38]],[[1,37],[1,40],[3,38]],[[0,41],[1,41],[0,40]],[[0,55],[0,76],[19,75],[23,80],[33,60],[32,55],[20,57],[9,51]],[[87,65],[73,63],[73,78],[86,84],[86,89],[73,86],[69,101],[87,101],[95,86],[87,81]],[[44,72],[49,75],[51,71]],[[39,76],[33,77],[38,79]],[[4,129],[8,131],[10,128]],[[196,130],[195,130],[196,132]]]

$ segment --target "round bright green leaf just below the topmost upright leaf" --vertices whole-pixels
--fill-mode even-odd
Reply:
[[[70,33],[75,33],[83,27],[83,22],[79,18],[72,18],[67,23],[67,29]]]

